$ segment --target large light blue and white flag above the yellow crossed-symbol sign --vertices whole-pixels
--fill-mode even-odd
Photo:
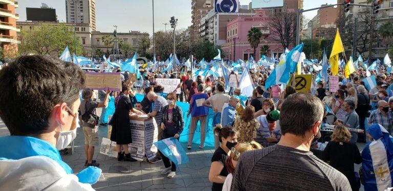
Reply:
[[[285,58],[285,69],[280,77],[280,82],[288,83],[290,74],[294,73],[297,68],[297,62],[299,62],[301,51],[303,50],[304,44],[300,44],[292,49]]]

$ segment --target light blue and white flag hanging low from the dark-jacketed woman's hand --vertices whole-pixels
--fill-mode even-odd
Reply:
[[[153,144],[157,146],[158,150],[160,150],[164,156],[168,157],[169,160],[177,166],[179,164],[188,163],[188,156],[178,139],[171,137]]]

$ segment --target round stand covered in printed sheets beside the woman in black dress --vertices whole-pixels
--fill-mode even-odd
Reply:
[[[145,155],[148,160],[153,159],[157,153],[158,126],[154,118],[132,117],[131,134],[133,143],[128,144],[128,151],[136,160],[143,161]]]

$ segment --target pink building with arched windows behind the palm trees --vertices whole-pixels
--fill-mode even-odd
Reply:
[[[288,9],[289,12],[294,10]],[[270,51],[273,50],[274,54],[282,53],[285,51],[285,47],[281,44],[273,43],[268,39],[270,31],[270,13],[269,10],[257,10],[254,16],[238,16],[227,23],[227,41],[222,45],[222,50],[225,53],[225,59],[237,60],[241,58],[248,60],[250,55],[255,60],[260,59],[260,47],[263,45],[269,45]],[[252,28],[259,28],[262,32],[261,42],[256,49],[256,55],[254,56],[254,50],[248,43],[248,31]]]

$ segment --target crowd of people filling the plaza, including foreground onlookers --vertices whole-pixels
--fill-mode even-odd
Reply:
[[[242,70],[247,68],[229,75],[236,76]],[[84,74],[73,63],[42,56],[20,57],[0,70],[0,88],[4,90],[0,94],[0,117],[11,134],[0,137],[0,144],[14,145],[0,151],[0,187],[92,189],[92,182],[84,181],[85,174],[72,174],[58,151],[75,139],[80,125],[86,169],[98,171],[99,164],[93,160],[98,125],[108,123],[112,125],[110,139],[117,143],[118,160],[136,161],[128,151],[133,141],[130,118],[141,114],[155,118],[158,140],[179,139],[188,129],[188,149],[193,146],[198,123],[199,148],[205,147],[206,127],[214,126],[215,152],[209,171],[212,190],[359,190],[360,182],[365,190],[375,190],[374,184],[378,189],[392,187],[391,182],[381,187],[378,181],[368,181],[378,176],[374,171],[369,173],[376,160],[373,155],[378,152],[370,152],[368,147],[380,141],[385,146],[378,148],[379,152],[393,160],[389,137],[393,133],[393,73],[383,68],[372,71],[377,84],[370,90],[362,81],[366,71],[359,69],[350,78],[339,73],[336,92],[330,92],[329,83],[323,79],[313,81],[310,92],[296,92],[294,87],[280,84],[266,89],[271,72],[267,67],[258,66],[249,72],[254,86],[250,97],[242,96],[242,88],[228,86],[222,76],[195,76],[185,66],[166,72],[160,68],[158,72],[141,70],[135,80],[123,72],[121,91],[97,92],[84,87]],[[157,78],[178,78],[181,83],[165,94]],[[137,93],[144,94],[140,102]],[[107,107],[111,99],[115,99],[113,117],[102,121],[96,108]],[[179,101],[189,103],[187,113],[178,106]],[[212,124],[207,124],[209,111],[213,113]],[[190,123],[185,126],[188,117]],[[362,153],[358,142],[366,143]],[[161,174],[175,177],[176,164],[160,151],[150,162],[161,160]],[[363,169],[355,169],[354,164],[360,163]],[[21,164],[24,171],[6,173]],[[39,183],[21,183],[42,179],[28,176],[30,171],[49,175]]]

